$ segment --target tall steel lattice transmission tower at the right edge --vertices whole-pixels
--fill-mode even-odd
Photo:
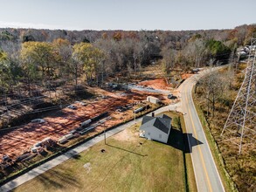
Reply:
[[[246,76],[221,133],[227,141],[239,146],[239,154],[245,140],[256,141],[256,38],[251,40],[249,48]]]

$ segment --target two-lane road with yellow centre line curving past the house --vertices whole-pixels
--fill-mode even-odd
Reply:
[[[225,191],[191,95],[192,88],[196,84],[195,78],[199,79],[207,72],[210,71],[206,70],[185,80],[178,88],[182,100],[180,110],[184,114],[197,190],[201,192]]]

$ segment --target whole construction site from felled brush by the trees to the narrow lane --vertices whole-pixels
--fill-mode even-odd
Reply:
[[[171,88],[164,79],[143,81],[129,89],[118,86],[109,84],[105,89],[86,86],[86,92],[93,96],[72,103],[65,102],[66,95],[78,94],[81,90],[51,87],[46,91],[37,90],[31,97],[3,94],[0,98],[0,179],[170,103],[167,93]],[[157,102],[147,101],[148,96],[156,97]]]

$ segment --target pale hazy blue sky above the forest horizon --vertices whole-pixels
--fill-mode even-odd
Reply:
[[[206,30],[256,24],[256,0],[0,0],[0,27]]]

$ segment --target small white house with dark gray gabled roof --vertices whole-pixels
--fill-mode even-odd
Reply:
[[[140,136],[148,140],[160,141],[167,143],[171,128],[171,118],[166,115],[158,115],[155,117],[144,116],[142,118],[142,126],[140,127]]]

